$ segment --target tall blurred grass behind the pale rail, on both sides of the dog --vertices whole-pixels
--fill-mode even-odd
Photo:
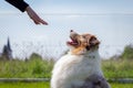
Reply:
[[[133,78],[133,61],[103,61],[106,78]],[[0,61],[0,78],[50,78],[53,61],[32,58],[29,61]]]

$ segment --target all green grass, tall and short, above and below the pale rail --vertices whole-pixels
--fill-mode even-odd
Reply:
[[[51,78],[53,59],[38,55],[29,59],[0,61],[0,78]],[[133,59],[102,61],[105,78],[133,78]],[[133,88],[133,84],[111,84],[112,88]],[[0,82],[0,88],[50,88],[49,82]]]

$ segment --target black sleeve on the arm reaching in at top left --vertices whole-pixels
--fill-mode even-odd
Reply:
[[[6,1],[9,2],[10,4],[14,6],[22,12],[24,12],[25,8],[29,6],[23,0],[6,0]]]

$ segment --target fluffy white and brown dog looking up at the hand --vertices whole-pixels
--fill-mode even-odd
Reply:
[[[70,51],[53,67],[51,88],[110,88],[101,69],[100,41],[73,30],[70,38]]]

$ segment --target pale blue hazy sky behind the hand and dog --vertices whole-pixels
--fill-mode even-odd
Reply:
[[[101,41],[100,54],[108,58],[133,44],[133,0],[24,0],[49,25],[35,25],[0,0],[0,52],[10,37],[14,57],[32,52],[59,57],[68,46],[70,30],[91,33]]]

